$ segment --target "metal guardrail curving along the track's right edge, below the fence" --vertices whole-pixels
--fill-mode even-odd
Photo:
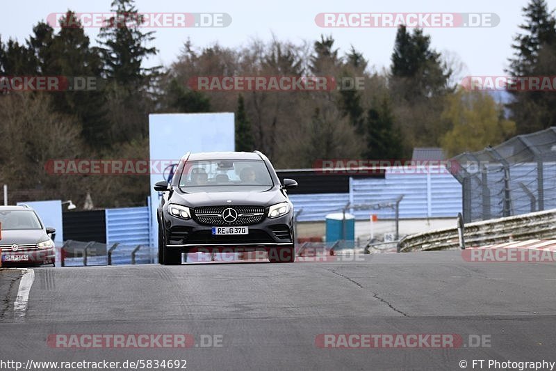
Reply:
[[[457,227],[433,230],[404,237],[398,244],[398,253],[484,246],[500,244],[512,239],[554,238],[556,237],[556,209],[465,225],[461,221],[461,227],[461,242]]]

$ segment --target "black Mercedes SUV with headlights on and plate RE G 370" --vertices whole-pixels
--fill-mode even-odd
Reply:
[[[182,262],[182,253],[268,252],[270,262],[295,260],[293,205],[261,152],[184,155],[158,206],[158,261]],[[187,255],[186,255],[187,256]]]

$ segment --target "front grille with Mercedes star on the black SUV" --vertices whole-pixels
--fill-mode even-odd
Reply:
[[[238,219],[231,223],[224,221],[222,212],[227,208],[236,210]],[[262,206],[204,206],[195,207],[193,214],[197,223],[207,226],[250,226],[263,220],[265,208]]]

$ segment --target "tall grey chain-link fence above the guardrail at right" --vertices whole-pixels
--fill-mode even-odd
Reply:
[[[556,127],[452,159],[464,221],[556,208]]]

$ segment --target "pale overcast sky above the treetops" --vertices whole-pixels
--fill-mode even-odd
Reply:
[[[67,9],[78,13],[106,13],[111,0],[49,0],[4,1],[0,13],[0,35],[24,40],[34,24],[46,20],[50,13],[63,13]],[[246,45],[252,38],[270,40],[274,34],[279,40],[301,43],[303,40],[330,35],[336,47],[345,54],[354,45],[377,70],[388,68],[395,38],[395,28],[322,28],[316,24],[318,13],[496,13],[500,23],[484,28],[425,28],[432,37],[432,46],[439,52],[449,52],[464,63],[463,75],[500,75],[507,68],[512,55],[512,38],[523,22],[521,8],[526,0],[280,0],[263,1],[179,1],[137,0],[140,12],[163,13],[227,13],[231,24],[225,28],[165,28],[156,31],[154,45],[159,54],[147,65],[170,65],[176,59],[183,42],[190,38],[195,47],[219,42],[226,47]],[[548,0],[550,10],[556,0]],[[145,29],[147,30],[147,29]],[[97,28],[85,30],[93,42]]]

